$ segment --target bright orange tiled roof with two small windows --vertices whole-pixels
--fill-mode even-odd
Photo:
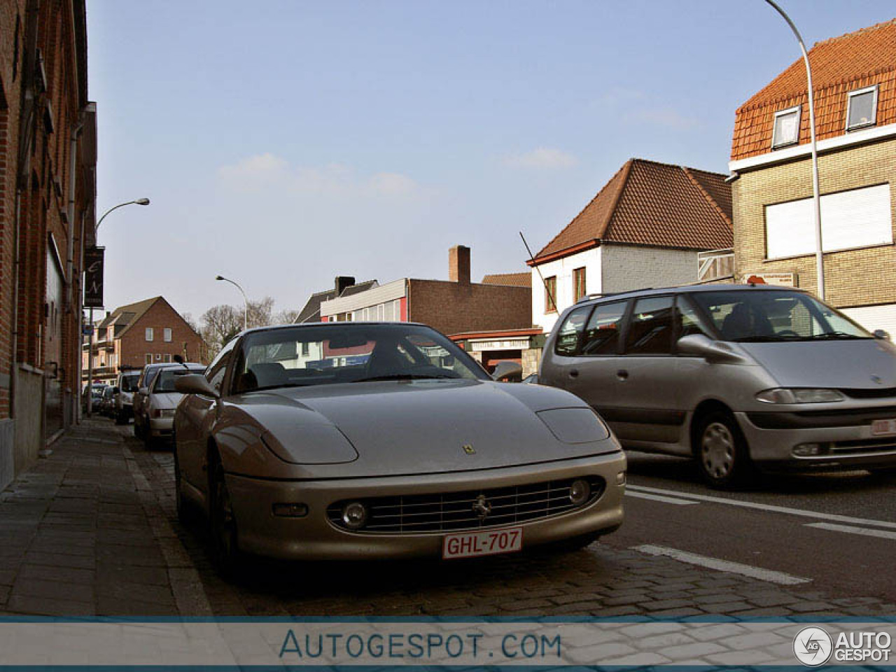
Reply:
[[[809,64],[818,140],[846,133],[847,93],[873,84],[878,85],[876,125],[896,122],[896,19],[815,43]],[[731,160],[771,151],[774,113],[797,105],[803,106],[799,143],[805,144],[809,110],[802,58],[737,109]]]

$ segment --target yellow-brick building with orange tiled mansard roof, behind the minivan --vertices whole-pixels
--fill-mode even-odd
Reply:
[[[896,332],[896,20],[809,51],[825,300]],[[729,168],[736,272],[817,291],[806,68],[799,59],[737,109]]]

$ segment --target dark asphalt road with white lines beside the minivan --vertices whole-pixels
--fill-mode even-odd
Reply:
[[[896,475],[866,471],[767,475],[719,492],[702,485],[689,461],[630,452],[625,525],[606,543],[893,601],[894,494]]]

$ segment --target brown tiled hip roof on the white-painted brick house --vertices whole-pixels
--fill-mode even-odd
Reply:
[[[535,260],[573,254],[599,242],[730,247],[731,189],[719,173],[629,159]]]

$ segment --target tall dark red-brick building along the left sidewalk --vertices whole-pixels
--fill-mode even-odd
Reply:
[[[84,0],[0,3],[0,488],[73,421],[96,108]]]

